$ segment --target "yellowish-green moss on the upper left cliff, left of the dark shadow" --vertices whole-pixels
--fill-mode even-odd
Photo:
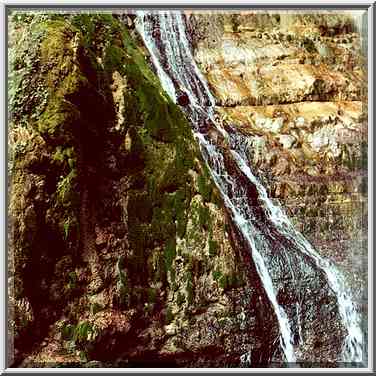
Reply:
[[[75,133],[82,114],[66,97],[81,89],[81,86],[73,85],[74,82],[85,79],[77,62],[74,62],[72,39],[76,36],[75,31],[63,17],[55,17],[54,21],[52,18],[35,16],[28,29],[24,30],[28,35],[26,45],[29,53],[32,51],[31,55],[34,55],[35,52],[35,56],[34,61],[26,63],[27,72],[22,75],[26,87],[16,92],[14,104],[18,115],[15,120],[25,120],[27,126],[33,129],[33,134],[39,133],[38,138],[44,140],[40,143],[35,138],[29,142],[30,150],[33,146],[35,148],[33,155],[41,154],[43,160],[32,154],[30,158],[37,167],[46,171],[49,184],[56,182],[55,192],[49,191],[53,206],[49,214],[53,218],[51,223],[59,224],[57,230],[67,242],[67,249],[71,250],[77,247],[79,240],[77,218],[80,196]],[[32,92],[29,93],[29,90]]]

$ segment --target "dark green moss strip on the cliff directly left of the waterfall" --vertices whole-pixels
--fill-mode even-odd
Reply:
[[[118,70],[127,79],[124,114],[131,124],[127,165],[130,174],[143,171],[146,180],[146,191],[129,194],[129,240],[137,255],[130,262],[132,270],[141,271],[149,247],[160,245],[164,250],[164,268],[159,266],[160,272],[152,278],[164,279],[165,270],[173,284],[176,237],[182,238],[186,232],[187,208],[192,195],[188,170],[193,168],[197,150],[187,120],[163,92],[128,32],[116,21],[111,21],[109,28],[121,30],[120,38],[114,33],[117,35],[114,43],[104,47],[103,64],[106,70]],[[205,179],[202,183],[209,200],[210,183]],[[207,226],[208,209],[202,208],[200,214],[200,226]],[[149,222],[150,227],[144,225]],[[135,267],[136,258],[140,260],[139,268]]]

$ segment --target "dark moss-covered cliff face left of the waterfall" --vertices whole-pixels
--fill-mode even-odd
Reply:
[[[10,361],[264,363],[270,303],[126,21],[11,16]]]

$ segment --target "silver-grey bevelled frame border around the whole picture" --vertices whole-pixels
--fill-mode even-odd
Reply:
[[[317,0],[315,2],[307,1],[236,1],[231,3],[230,1],[199,1],[191,0],[177,3],[176,1],[141,1],[136,0],[127,2],[96,2],[96,1],[1,1],[1,25],[3,26],[1,44],[2,44],[2,59],[1,59],[1,71],[2,71],[2,97],[1,101],[1,113],[3,114],[3,131],[1,137],[3,137],[4,146],[4,163],[1,165],[1,175],[3,177],[4,194],[1,197],[1,206],[3,208],[3,226],[2,226],[2,239],[3,241],[3,255],[2,258],[2,270],[4,272],[4,279],[2,280],[3,286],[0,286],[1,298],[4,303],[4,309],[1,311],[1,326],[0,337],[2,341],[1,351],[1,364],[0,370],[2,373],[184,373],[184,374],[197,374],[200,373],[364,373],[374,374],[374,301],[375,291],[373,288],[375,270],[375,257],[373,255],[373,213],[374,213],[374,200],[373,200],[373,187],[374,187],[374,145],[375,145],[375,131],[373,129],[373,88],[376,78],[373,74],[374,61],[375,61],[375,48],[374,48],[374,20],[376,16],[375,3],[365,1],[330,1],[325,2],[323,0]],[[226,369],[226,368],[11,368],[8,367],[8,15],[13,10],[105,10],[111,9],[135,9],[135,8],[147,8],[147,9],[265,9],[265,10],[318,10],[318,9],[338,9],[338,10],[365,10],[367,17],[367,75],[368,75],[368,367],[367,368],[239,368],[239,369]]]

